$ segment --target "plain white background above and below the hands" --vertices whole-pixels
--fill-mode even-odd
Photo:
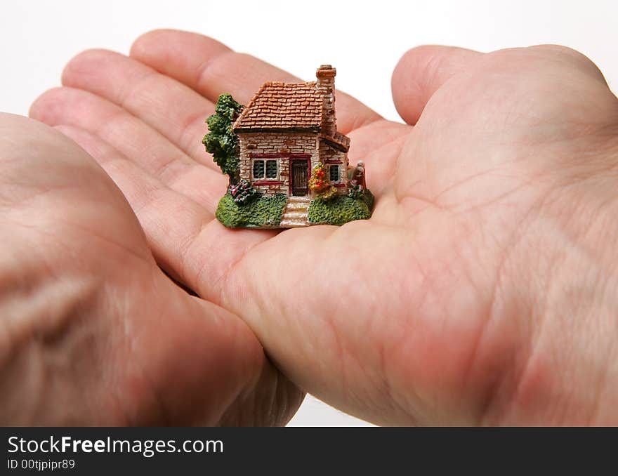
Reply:
[[[0,0],[0,110],[27,114],[86,48],[126,53],[149,29],[208,34],[311,80],[337,68],[338,88],[397,119],[390,74],[419,44],[480,51],[554,43],[597,63],[618,91],[618,0]],[[362,425],[308,398],[292,425]]]

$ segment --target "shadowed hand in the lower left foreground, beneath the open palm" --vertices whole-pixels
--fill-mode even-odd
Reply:
[[[84,150],[0,114],[0,180],[3,425],[273,425],[294,414],[301,393],[249,327],[163,274]]]

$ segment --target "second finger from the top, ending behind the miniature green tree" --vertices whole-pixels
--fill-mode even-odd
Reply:
[[[125,55],[89,50],[65,67],[63,84],[123,107],[195,161],[216,167],[201,142],[214,105],[175,79]]]

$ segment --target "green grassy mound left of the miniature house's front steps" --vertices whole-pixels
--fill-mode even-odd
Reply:
[[[216,217],[229,228],[278,227],[286,202],[287,195],[276,194],[272,197],[258,197],[249,204],[237,205],[230,194],[225,194],[217,206]]]

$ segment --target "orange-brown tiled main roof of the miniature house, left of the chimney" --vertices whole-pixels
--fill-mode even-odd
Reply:
[[[322,93],[309,83],[265,83],[246,105],[234,130],[288,129],[319,131]]]

